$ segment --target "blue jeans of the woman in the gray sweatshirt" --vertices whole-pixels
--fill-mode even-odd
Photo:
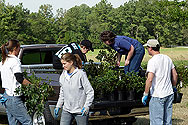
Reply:
[[[89,116],[81,116],[81,114],[72,114],[67,111],[62,111],[60,125],[71,125],[75,118],[77,125],[88,125]]]

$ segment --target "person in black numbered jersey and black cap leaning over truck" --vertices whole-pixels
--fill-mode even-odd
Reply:
[[[92,43],[89,40],[83,40],[78,45],[75,42],[72,42],[66,46],[64,46],[62,49],[60,49],[53,58],[53,68],[54,69],[62,69],[62,64],[60,62],[61,56],[65,53],[73,53],[78,54],[82,60],[82,63],[87,62],[86,53],[88,51],[94,51],[92,48]]]

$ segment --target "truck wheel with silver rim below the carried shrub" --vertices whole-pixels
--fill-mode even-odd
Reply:
[[[33,125],[55,125],[56,122],[50,112],[49,104],[46,102],[44,113],[42,115],[37,116],[35,112],[33,115]]]

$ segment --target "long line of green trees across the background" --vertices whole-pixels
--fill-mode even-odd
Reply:
[[[113,8],[107,0],[93,7],[86,4],[68,10],[44,4],[30,12],[23,4],[6,5],[0,0],[0,44],[18,39],[22,44],[67,44],[88,39],[104,48],[99,35],[111,30],[144,44],[158,39],[161,45],[188,45],[188,1],[129,0]]]

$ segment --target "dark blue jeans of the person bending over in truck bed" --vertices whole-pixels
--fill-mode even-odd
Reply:
[[[132,71],[134,71],[136,73],[139,73],[139,68],[140,68],[142,59],[144,57],[144,54],[145,54],[144,47],[139,42],[137,44],[136,48],[134,49],[134,54],[133,54],[133,56],[132,56],[132,58],[130,60],[129,65],[124,67],[125,74],[127,72],[132,72]],[[125,58],[127,58],[127,57],[125,56]]]

